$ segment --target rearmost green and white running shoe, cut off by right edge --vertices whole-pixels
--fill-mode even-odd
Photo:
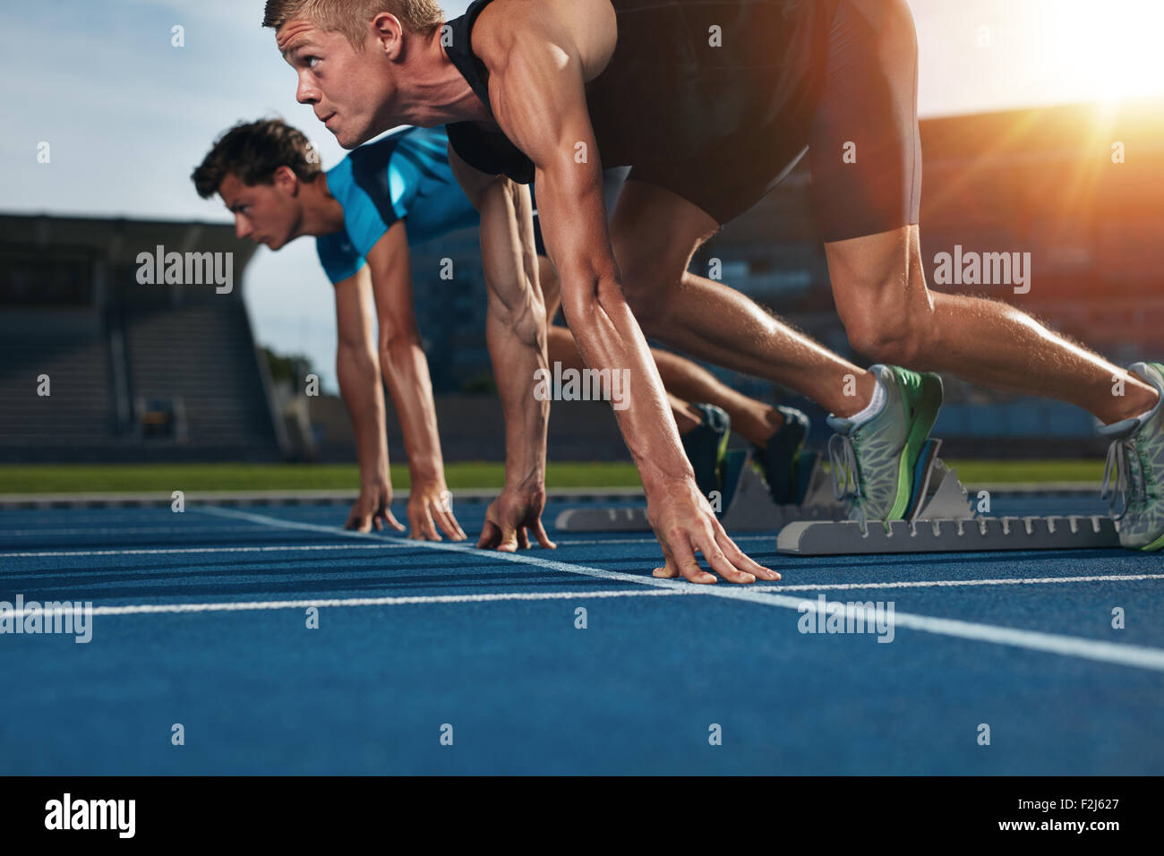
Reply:
[[[1164,547],[1164,363],[1137,362],[1128,370],[1156,387],[1161,399],[1144,417],[1099,430],[1112,438],[1100,496],[1112,500],[1120,543],[1152,552]]]

